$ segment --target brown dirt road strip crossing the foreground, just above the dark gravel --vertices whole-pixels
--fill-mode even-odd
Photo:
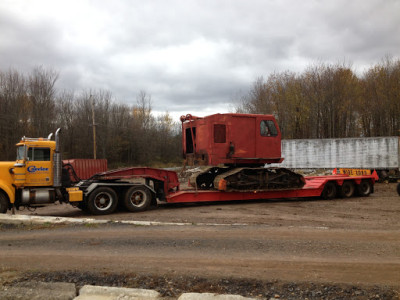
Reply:
[[[99,226],[3,232],[19,270],[197,274],[395,285],[398,232],[253,226]]]

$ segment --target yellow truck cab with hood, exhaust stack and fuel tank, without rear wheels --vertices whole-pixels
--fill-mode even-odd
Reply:
[[[0,163],[0,213],[11,207],[81,201],[82,191],[62,186],[62,161],[56,140],[23,137],[15,162]]]

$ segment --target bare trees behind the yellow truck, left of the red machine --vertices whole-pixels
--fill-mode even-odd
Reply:
[[[96,157],[110,167],[180,163],[180,125],[168,112],[155,116],[149,94],[139,92],[128,105],[109,91],[57,91],[57,79],[43,67],[0,71],[0,160],[15,160],[21,137],[47,137],[56,128],[65,159],[93,158],[94,112]]]

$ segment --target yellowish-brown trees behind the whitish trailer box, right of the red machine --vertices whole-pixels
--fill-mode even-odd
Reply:
[[[361,75],[345,63],[315,64],[257,78],[236,112],[274,114],[287,139],[400,134],[400,60]]]

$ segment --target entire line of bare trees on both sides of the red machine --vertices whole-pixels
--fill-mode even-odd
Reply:
[[[105,90],[58,91],[58,76],[43,67],[0,70],[0,160],[15,160],[22,136],[59,127],[64,158],[93,158],[94,112],[97,158],[110,167],[181,163],[180,124],[168,112],[155,116],[151,95],[141,91],[129,105]],[[400,60],[386,57],[361,75],[340,63],[273,73],[257,78],[234,107],[274,114],[286,139],[399,135]]]

